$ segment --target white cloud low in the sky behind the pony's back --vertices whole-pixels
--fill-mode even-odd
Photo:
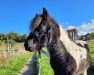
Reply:
[[[76,28],[78,30],[78,35],[85,35],[90,32],[94,32],[94,19],[90,23],[85,23],[79,26],[70,25],[67,29]]]

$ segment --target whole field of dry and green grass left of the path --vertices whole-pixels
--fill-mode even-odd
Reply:
[[[2,44],[0,45],[0,75],[17,75],[33,54],[24,50],[23,43],[15,43],[9,51],[7,43]]]

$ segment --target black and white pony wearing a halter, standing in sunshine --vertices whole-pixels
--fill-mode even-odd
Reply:
[[[30,29],[24,43],[25,50],[41,51],[43,47],[47,47],[54,75],[87,75],[91,63],[89,48],[71,41],[45,8],[42,14],[36,14]]]

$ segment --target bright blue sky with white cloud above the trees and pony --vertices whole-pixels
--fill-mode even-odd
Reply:
[[[30,21],[43,7],[65,30],[94,32],[94,0],[0,0],[0,33],[29,33]]]

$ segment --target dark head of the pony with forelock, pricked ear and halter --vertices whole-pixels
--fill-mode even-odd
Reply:
[[[47,47],[53,39],[53,33],[57,37],[60,35],[57,33],[59,32],[58,28],[59,26],[50,18],[47,10],[43,8],[43,13],[40,15],[36,14],[31,23],[31,33],[25,41],[25,49],[35,51],[41,50],[42,47]]]

